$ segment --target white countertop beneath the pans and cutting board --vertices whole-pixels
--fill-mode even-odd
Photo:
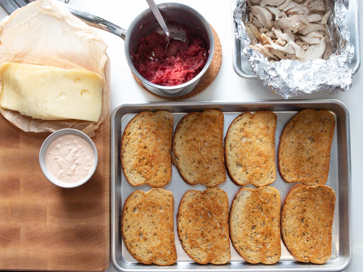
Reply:
[[[167,0],[156,0],[156,3]],[[209,21],[216,30],[222,45],[223,58],[219,74],[215,81],[201,94],[189,99],[201,100],[267,100],[283,99],[264,87],[258,80],[247,80],[239,77],[232,67],[232,12],[230,1],[221,0],[171,0],[180,2],[195,8]],[[69,4],[81,8],[87,12],[102,17],[123,28],[148,6],[144,0],[70,0]],[[0,7],[0,19],[7,13]],[[363,37],[363,9],[360,8],[360,36]],[[111,59],[111,110],[121,103],[138,103],[146,101],[160,101],[160,99],[148,94],[134,80],[127,65],[123,51],[123,40],[111,33],[97,30],[106,44],[109,45],[107,53]],[[362,45],[360,45],[363,52]],[[350,114],[350,140],[351,140],[351,169],[352,169],[352,249],[353,258],[350,266],[345,271],[363,271],[363,114],[362,114],[362,90],[363,68],[353,78],[353,87],[336,95],[326,93],[305,95],[297,99],[337,99],[343,102]],[[117,271],[110,263],[106,271]]]

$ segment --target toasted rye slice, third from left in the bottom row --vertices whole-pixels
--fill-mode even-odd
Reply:
[[[280,260],[281,198],[274,187],[241,188],[233,198],[229,233],[233,247],[249,263]]]

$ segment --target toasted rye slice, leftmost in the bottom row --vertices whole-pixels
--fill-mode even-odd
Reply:
[[[175,263],[173,211],[171,191],[152,188],[129,195],[123,205],[121,231],[132,257],[144,264]]]

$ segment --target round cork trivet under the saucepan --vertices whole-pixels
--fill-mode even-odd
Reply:
[[[221,42],[219,40],[219,37],[218,37],[216,31],[214,30],[214,28],[212,26],[211,26],[211,29],[212,29],[212,33],[213,33],[213,37],[214,37],[214,55],[212,58],[212,62],[209,65],[208,70],[205,71],[203,77],[200,78],[199,82],[197,83],[197,85],[194,87],[194,89],[191,92],[188,92],[187,94],[180,95],[180,96],[174,96],[174,97],[154,94],[154,92],[151,92],[147,88],[145,88],[144,85],[142,85],[141,80],[138,77],[136,77],[136,75],[134,73],[132,73],[136,82],[149,94],[152,94],[152,95],[156,96],[157,98],[162,98],[162,99],[172,100],[172,101],[188,99],[188,98],[191,98],[191,97],[196,96],[197,94],[200,94],[201,92],[203,92],[209,85],[211,85],[213,80],[216,78],[219,68],[221,67],[221,62],[222,62]]]

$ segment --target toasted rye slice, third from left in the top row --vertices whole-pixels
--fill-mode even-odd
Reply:
[[[276,121],[271,111],[245,112],[229,125],[224,157],[229,176],[238,185],[260,187],[275,181]]]

